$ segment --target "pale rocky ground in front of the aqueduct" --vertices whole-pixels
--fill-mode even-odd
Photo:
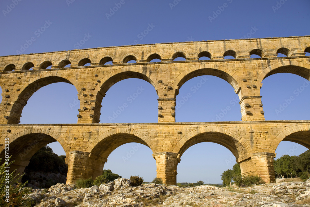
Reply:
[[[178,187],[143,184],[130,187],[130,180],[120,178],[105,185],[75,189],[57,184],[29,195],[36,207],[140,207],[140,206],[310,206],[310,179],[307,182],[263,184],[247,188],[219,188],[202,185]]]

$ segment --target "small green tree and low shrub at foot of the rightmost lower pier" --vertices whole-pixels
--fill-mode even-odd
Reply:
[[[257,175],[250,175],[250,176],[245,176],[242,178],[241,176],[241,169],[240,165],[236,163],[233,167],[232,170],[228,169],[225,170],[222,173],[222,178],[221,180],[223,181],[223,186],[231,186],[234,181],[234,183],[238,187],[249,187],[251,185],[258,185],[258,184],[264,184],[265,182],[260,176]]]

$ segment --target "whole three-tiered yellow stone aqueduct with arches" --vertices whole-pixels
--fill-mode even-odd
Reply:
[[[177,165],[190,146],[215,142],[228,148],[243,175],[259,174],[275,182],[273,158],[283,141],[310,149],[310,120],[265,121],[260,88],[276,73],[292,73],[310,80],[310,36],[160,43],[102,47],[0,57],[0,152],[5,138],[23,172],[42,146],[58,141],[66,152],[67,183],[102,173],[108,155],[129,142],[153,151],[157,177],[176,184]],[[286,57],[277,57],[277,53]],[[260,58],[250,58],[256,54]],[[224,56],[235,59],[224,59]],[[199,60],[206,56],[210,60]],[[184,57],[186,61],[173,61]],[[150,62],[153,59],[161,62]],[[135,60],[136,63],[127,63]],[[113,61],[113,65],[104,65]],[[84,66],[90,63],[90,66]],[[65,65],[71,64],[71,67]],[[47,69],[51,66],[51,69]],[[33,70],[29,70],[33,68]],[[12,71],[14,70],[14,71]],[[226,80],[240,99],[241,119],[234,122],[175,122],[175,98],[189,79],[214,75]],[[99,124],[106,91],[118,81],[139,78],[158,94],[158,123]],[[39,88],[66,82],[78,91],[77,124],[18,124],[23,107]]]

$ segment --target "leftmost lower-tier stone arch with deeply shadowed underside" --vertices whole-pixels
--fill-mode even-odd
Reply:
[[[8,136],[9,137],[9,136]],[[25,167],[28,166],[31,157],[43,146],[51,142],[59,142],[63,147],[66,157],[69,155],[69,146],[58,133],[46,128],[31,128],[13,135],[10,138],[10,155],[14,163],[11,165],[12,170],[22,174]],[[0,157],[4,158],[5,145],[0,147]],[[66,163],[68,164],[66,158]]]

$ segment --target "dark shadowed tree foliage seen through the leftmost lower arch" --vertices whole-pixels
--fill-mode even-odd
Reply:
[[[67,175],[68,165],[64,161],[65,158],[65,155],[55,154],[51,147],[43,146],[32,156],[25,170]]]

